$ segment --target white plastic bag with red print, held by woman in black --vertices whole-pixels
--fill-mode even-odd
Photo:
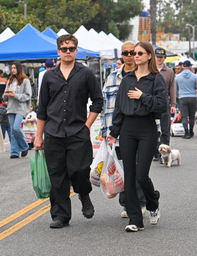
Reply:
[[[107,145],[107,149],[109,157],[107,166],[103,168],[100,176],[100,187],[104,195],[113,198],[124,191],[124,171],[116,156],[115,144],[112,149]]]

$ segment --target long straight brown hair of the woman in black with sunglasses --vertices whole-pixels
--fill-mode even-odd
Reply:
[[[151,46],[150,43],[148,42],[139,42],[135,45],[135,48],[137,46],[142,47],[143,49],[145,49],[145,51],[147,51],[148,54],[151,54],[151,59],[148,60],[148,69],[150,70],[150,72],[152,74],[158,74],[159,70],[156,66],[156,61],[155,61],[155,54],[154,54],[154,50],[153,50],[153,46]],[[134,71],[138,69],[137,64],[134,64]]]

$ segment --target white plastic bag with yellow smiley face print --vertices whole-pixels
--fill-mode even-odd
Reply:
[[[107,142],[103,140],[90,166],[90,182],[94,186],[100,187],[100,174],[107,164],[108,155]]]

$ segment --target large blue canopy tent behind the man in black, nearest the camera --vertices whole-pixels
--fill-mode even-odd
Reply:
[[[78,59],[98,58],[98,53],[78,48]],[[12,38],[0,43],[0,62],[58,58],[56,40],[27,24]]]

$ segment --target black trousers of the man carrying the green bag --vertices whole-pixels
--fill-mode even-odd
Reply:
[[[74,192],[89,194],[92,163],[92,143],[87,126],[70,137],[59,138],[45,134],[44,153],[52,189],[50,214],[53,220],[70,221],[70,181]]]

